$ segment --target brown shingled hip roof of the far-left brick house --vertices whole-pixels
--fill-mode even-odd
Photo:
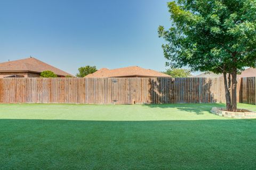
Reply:
[[[33,57],[0,63],[0,72],[38,72],[50,70],[58,76],[73,76]]]

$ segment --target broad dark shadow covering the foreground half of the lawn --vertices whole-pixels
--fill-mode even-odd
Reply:
[[[3,169],[253,169],[256,119],[0,119]]]

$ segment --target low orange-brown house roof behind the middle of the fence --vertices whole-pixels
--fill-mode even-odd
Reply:
[[[171,77],[169,75],[163,74],[151,69],[143,69],[138,66],[124,67],[118,69],[107,69],[102,68],[93,74],[85,76],[86,78],[90,77]]]

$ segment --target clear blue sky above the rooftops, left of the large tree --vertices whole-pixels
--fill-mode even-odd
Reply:
[[[167,0],[2,0],[0,62],[30,55],[71,74],[78,67],[164,71],[157,27]]]

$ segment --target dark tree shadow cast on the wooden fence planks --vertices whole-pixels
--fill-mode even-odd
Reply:
[[[150,78],[150,104],[216,103],[212,84],[209,78]]]

